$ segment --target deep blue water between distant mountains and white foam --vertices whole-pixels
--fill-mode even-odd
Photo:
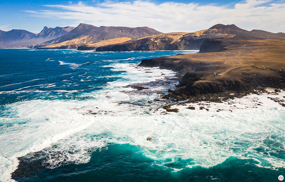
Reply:
[[[1,49],[1,91],[13,91],[27,87],[21,89],[21,91],[40,89],[40,91],[47,92],[39,94],[34,92],[16,93],[16,95],[5,94],[5,97],[0,97],[0,102],[1,104],[7,104],[38,98],[75,99],[78,98],[78,93],[62,94],[54,91],[78,90],[80,94],[102,89],[101,87],[106,85],[107,82],[119,79],[119,77],[106,78],[106,76],[119,75],[124,72],[111,70],[112,67],[108,67],[110,64],[137,64],[142,59],[176,55],[178,53],[185,53],[185,51],[98,53],[74,50]],[[62,61],[62,63],[59,61]],[[86,81],[90,79],[92,81]],[[45,85],[51,83],[55,83],[56,86],[48,87],[48,85]]]

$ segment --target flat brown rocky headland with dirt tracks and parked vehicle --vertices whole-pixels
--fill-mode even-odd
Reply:
[[[284,45],[281,36],[208,38],[197,54],[146,59],[140,66],[178,72],[179,84],[165,99],[219,102],[221,98],[241,97],[266,87],[284,89]],[[220,75],[214,76],[214,72]]]

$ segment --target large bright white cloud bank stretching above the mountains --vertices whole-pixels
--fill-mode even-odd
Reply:
[[[271,4],[270,4],[271,2]],[[285,32],[285,3],[270,0],[247,0],[235,4],[217,6],[197,3],[151,1],[94,3],[82,2],[70,5],[46,5],[54,10],[26,11],[37,17],[71,19],[95,26],[148,26],[161,32],[194,32],[214,24],[235,24],[246,30],[262,29]]]

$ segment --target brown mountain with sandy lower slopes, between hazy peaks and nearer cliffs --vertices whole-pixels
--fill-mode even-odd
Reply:
[[[77,48],[86,44],[95,44],[105,41],[102,45],[121,43],[132,38],[160,34],[152,28],[144,27],[122,27],[122,26],[93,26],[89,24],[79,24],[72,31],[64,36],[38,44],[37,49],[54,49],[54,48]],[[110,40],[110,41],[106,41]],[[113,40],[113,41],[111,41]],[[106,43],[108,42],[108,43]]]

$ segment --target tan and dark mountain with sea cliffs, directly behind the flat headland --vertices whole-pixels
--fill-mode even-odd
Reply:
[[[96,51],[152,51],[152,50],[199,50],[207,38],[233,38],[248,39],[280,38],[284,33],[271,33],[263,30],[243,30],[234,24],[216,24],[209,29],[198,32],[174,32],[156,34],[137,39],[128,40],[120,44],[101,46]]]

